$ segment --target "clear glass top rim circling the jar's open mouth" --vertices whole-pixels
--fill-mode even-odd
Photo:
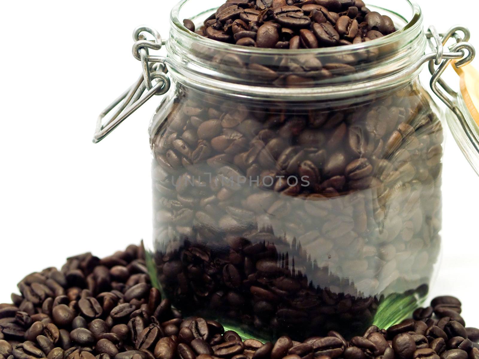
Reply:
[[[226,44],[220,41],[209,39],[205,36],[201,36],[196,34],[190,30],[188,30],[182,23],[180,18],[180,12],[183,8],[194,0],[182,0],[178,2],[170,12],[170,23],[171,27],[175,27],[178,31],[182,31],[186,36],[190,37],[195,42],[202,43],[206,46],[218,49],[218,50],[232,50],[240,53],[249,53],[250,55],[310,55],[310,54],[340,54],[342,52],[350,52],[350,51],[365,51],[370,48],[380,47],[384,45],[388,45],[392,42],[395,42],[398,36],[409,34],[414,32],[417,29],[417,25],[421,24],[422,20],[422,11],[420,6],[411,0],[402,0],[407,3],[411,9],[411,18],[408,20],[403,15],[399,14],[396,11],[388,10],[387,8],[383,8],[381,6],[373,6],[375,10],[384,12],[390,12],[395,14],[399,18],[403,19],[406,22],[406,25],[403,26],[398,31],[383,36],[381,38],[375,39],[374,41],[368,41],[361,44],[353,44],[353,45],[342,45],[342,46],[331,46],[331,47],[322,47],[316,49],[273,49],[273,48],[260,48],[260,47],[247,47],[247,46],[240,46],[235,44]],[[223,1],[224,2],[224,1]],[[368,6],[368,4],[366,4]],[[213,11],[216,11],[217,7],[210,8],[208,10],[202,11],[196,14],[191,20],[195,20],[195,18],[199,18],[205,14],[211,14]]]

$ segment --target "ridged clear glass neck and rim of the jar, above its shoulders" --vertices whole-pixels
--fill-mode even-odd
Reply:
[[[412,0],[371,11],[391,17],[396,32],[360,44],[319,49],[271,49],[222,43],[186,29],[182,19],[202,23],[224,0],[204,10],[203,0],[182,0],[171,11],[167,65],[173,80],[221,95],[278,101],[367,101],[416,78],[426,49],[422,11]],[[406,15],[404,15],[406,14]],[[278,89],[281,89],[278,91]],[[361,98],[359,100],[359,98]]]

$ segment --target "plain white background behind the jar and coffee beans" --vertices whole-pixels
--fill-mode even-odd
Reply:
[[[418,2],[425,25],[444,31],[460,22],[470,27],[473,44],[479,38],[476,1]],[[2,3],[0,303],[10,301],[18,280],[31,271],[60,266],[84,251],[105,256],[147,233],[147,126],[154,101],[102,143],[93,145],[91,137],[98,113],[139,75],[132,30],[146,23],[166,36],[173,3]],[[459,296],[468,325],[476,326],[478,185],[449,134],[443,261],[431,295]]]

